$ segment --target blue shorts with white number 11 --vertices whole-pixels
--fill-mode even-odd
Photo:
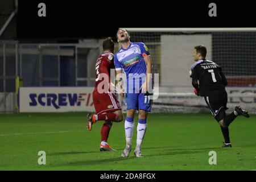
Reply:
[[[125,101],[127,110],[141,109],[148,112],[151,111],[152,100],[145,93],[126,93]]]

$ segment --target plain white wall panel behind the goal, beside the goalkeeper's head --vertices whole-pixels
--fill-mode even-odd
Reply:
[[[189,70],[193,48],[207,47],[207,59],[212,59],[212,35],[161,35],[161,85],[191,86]]]

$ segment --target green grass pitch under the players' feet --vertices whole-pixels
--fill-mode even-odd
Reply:
[[[142,144],[144,158],[122,158],[124,122],[114,123],[109,144],[116,152],[100,152],[103,122],[86,130],[86,113],[0,115],[0,170],[255,170],[256,115],[238,117],[230,125],[233,148],[221,148],[220,126],[211,114],[148,115]],[[136,143],[136,126],[133,150]],[[46,152],[46,165],[38,152]],[[217,164],[210,165],[209,151]]]

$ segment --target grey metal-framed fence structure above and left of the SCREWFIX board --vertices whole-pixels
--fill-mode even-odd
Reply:
[[[102,40],[77,44],[20,44],[0,42],[0,113],[14,113],[15,78],[23,86],[93,86],[93,65]]]

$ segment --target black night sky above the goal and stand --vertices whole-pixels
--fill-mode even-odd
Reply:
[[[46,3],[46,17],[38,4]],[[217,17],[209,17],[209,3]],[[234,4],[237,3],[237,4]],[[252,1],[19,1],[18,39],[114,38],[118,27],[256,27]]]

